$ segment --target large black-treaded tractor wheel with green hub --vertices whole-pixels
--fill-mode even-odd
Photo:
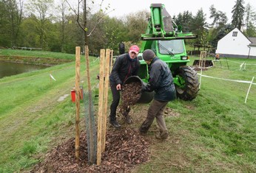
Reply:
[[[181,66],[178,69],[178,85],[175,84],[178,98],[183,100],[195,99],[199,91],[197,72],[189,66]]]

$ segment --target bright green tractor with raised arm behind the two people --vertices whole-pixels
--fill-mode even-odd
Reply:
[[[166,11],[164,4],[151,4],[151,16],[146,34],[141,35],[142,46],[138,58],[141,68],[138,76],[147,82],[148,68],[142,59],[142,52],[152,49],[155,54],[166,62],[172,71],[178,98],[192,100],[198,95],[199,82],[194,69],[186,66],[189,58],[186,55],[184,39],[197,38],[191,32],[183,33]]]

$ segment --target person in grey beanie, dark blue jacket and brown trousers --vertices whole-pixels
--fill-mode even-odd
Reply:
[[[139,132],[146,134],[154,119],[158,123],[160,133],[155,135],[158,139],[168,138],[168,130],[164,121],[163,111],[169,101],[176,98],[175,85],[172,73],[167,64],[155,56],[155,52],[146,49],[142,54],[149,68],[149,82],[142,91],[155,91],[154,99],[147,111],[146,120],[141,124]]]

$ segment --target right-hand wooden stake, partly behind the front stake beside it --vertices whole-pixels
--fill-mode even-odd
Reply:
[[[105,151],[106,144],[106,129],[107,129],[107,98],[109,90],[109,81],[110,81],[110,49],[107,49],[106,52],[106,61],[105,61],[105,80],[104,80],[104,113],[103,113],[103,124],[102,124],[102,152]]]

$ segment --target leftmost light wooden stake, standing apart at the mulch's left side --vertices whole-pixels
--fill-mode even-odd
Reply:
[[[80,116],[80,47],[75,47],[75,158],[79,158]]]

